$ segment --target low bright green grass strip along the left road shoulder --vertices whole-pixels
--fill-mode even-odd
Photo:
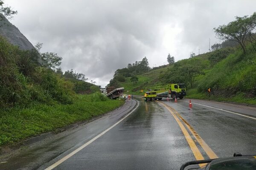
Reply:
[[[73,104],[36,104],[0,111],[0,146],[20,142],[60,127],[89,120],[118,108],[124,100],[110,100],[100,93],[76,95]]]

